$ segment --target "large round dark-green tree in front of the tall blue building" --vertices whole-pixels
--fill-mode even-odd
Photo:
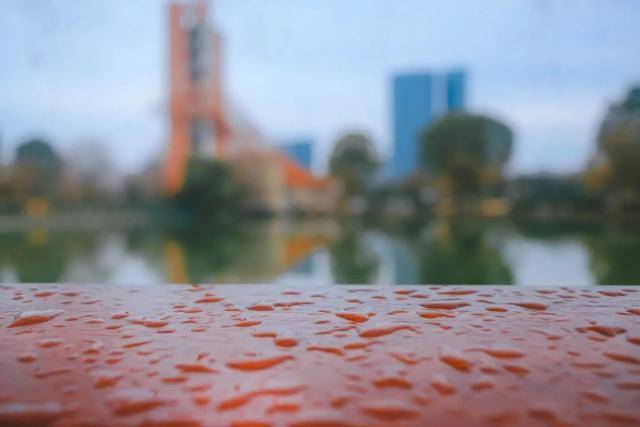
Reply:
[[[452,197],[492,190],[502,180],[513,133],[493,118],[466,113],[443,117],[421,137],[421,165]]]

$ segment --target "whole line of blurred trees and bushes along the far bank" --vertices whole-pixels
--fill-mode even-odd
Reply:
[[[380,224],[456,217],[640,218],[640,87],[611,105],[594,155],[579,173],[512,176],[508,164],[514,134],[508,124],[481,114],[449,114],[425,129],[419,142],[418,169],[402,179],[387,179],[376,144],[366,134],[339,138],[328,159],[339,202],[329,215]],[[160,162],[129,174],[118,174],[113,164],[95,142],[60,153],[46,139],[28,139],[0,169],[0,215],[143,211],[156,219],[199,224],[255,217],[255,209],[247,208],[252,204],[246,183],[235,179],[223,160],[191,159],[182,188],[170,195],[160,185]]]

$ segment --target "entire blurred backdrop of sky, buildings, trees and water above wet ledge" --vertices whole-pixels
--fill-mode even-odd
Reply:
[[[0,281],[640,284],[635,0],[1,0]]]

